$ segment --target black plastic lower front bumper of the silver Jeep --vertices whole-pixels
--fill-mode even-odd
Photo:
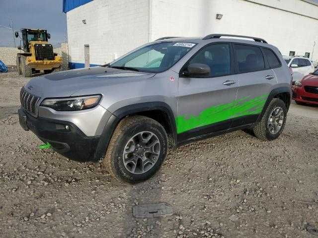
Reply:
[[[18,114],[23,129],[31,130],[40,140],[49,142],[56,151],[65,155],[78,156],[79,159],[94,158],[101,135],[86,136],[70,121],[34,118],[23,108],[18,110]]]

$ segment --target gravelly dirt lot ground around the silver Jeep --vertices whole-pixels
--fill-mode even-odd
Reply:
[[[99,165],[39,150],[15,113],[26,82],[0,74],[0,237],[310,238],[318,228],[318,108],[292,105],[281,137],[242,131],[169,151],[136,185]],[[173,216],[136,219],[136,204]]]

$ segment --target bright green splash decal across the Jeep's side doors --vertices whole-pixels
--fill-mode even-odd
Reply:
[[[198,116],[182,115],[176,118],[177,133],[196,127],[213,124],[231,118],[257,115],[263,110],[267,94],[255,98],[245,97],[227,104],[212,106],[203,110]]]

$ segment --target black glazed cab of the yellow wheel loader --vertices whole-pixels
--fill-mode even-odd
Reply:
[[[50,34],[48,34],[46,30],[21,29],[21,34],[24,52],[30,52],[29,42],[43,41],[47,43],[48,39],[50,39]],[[18,36],[18,32],[15,32],[15,37]]]

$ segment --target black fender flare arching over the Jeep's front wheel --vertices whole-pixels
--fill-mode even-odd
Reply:
[[[147,102],[147,103],[132,104],[132,105],[119,108],[112,113],[106,125],[104,126],[103,132],[100,136],[99,142],[97,144],[97,147],[94,153],[94,161],[99,161],[104,158],[110,139],[116,129],[116,126],[118,125],[121,119],[124,119],[125,117],[130,115],[135,115],[138,113],[149,112],[154,110],[161,111],[167,116],[168,126],[170,127],[170,130],[172,132],[173,142],[176,145],[177,144],[176,124],[175,124],[173,112],[168,104],[164,102]]]

